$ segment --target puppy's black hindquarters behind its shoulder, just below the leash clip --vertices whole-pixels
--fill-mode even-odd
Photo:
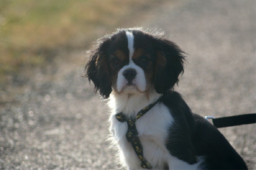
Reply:
[[[203,117],[194,114],[193,144],[199,155],[206,155],[207,169],[247,169],[244,160],[227,139]]]

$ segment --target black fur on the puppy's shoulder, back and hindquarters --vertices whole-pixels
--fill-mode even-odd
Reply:
[[[167,92],[161,102],[174,118],[166,148],[189,164],[205,156],[204,169],[247,169],[244,160],[227,139],[203,117],[193,114],[178,92]]]

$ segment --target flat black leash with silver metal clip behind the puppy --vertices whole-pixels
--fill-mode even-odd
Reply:
[[[212,119],[212,123],[216,128],[224,128],[224,127],[230,127],[230,126],[256,123],[256,113],[220,117],[220,118],[205,116],[204,118],[207,121],[208,119]]]

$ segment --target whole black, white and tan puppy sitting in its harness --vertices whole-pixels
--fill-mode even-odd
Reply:
[[[84,76],[109,99],[120,163],[128,169],[247,169],[220,131],[174,91],[186,55],[163,32],[141,28],[117,29],[90,51]]]

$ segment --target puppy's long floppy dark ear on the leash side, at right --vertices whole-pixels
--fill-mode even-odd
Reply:
[[[172,41],[156,40],[155,90],[157,93],[164,93],[178,84],[179,75],[184,72],[185,54]]]

